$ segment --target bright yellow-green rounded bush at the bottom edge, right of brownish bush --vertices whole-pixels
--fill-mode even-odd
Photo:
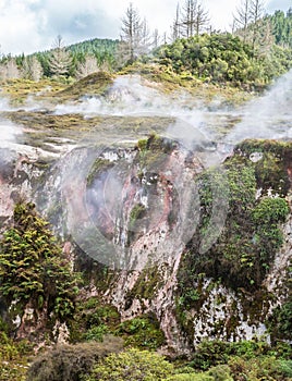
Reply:
[[[173,366],[158,354],[132,348],[99,361],[86,381],[162,381],[173,371]]]

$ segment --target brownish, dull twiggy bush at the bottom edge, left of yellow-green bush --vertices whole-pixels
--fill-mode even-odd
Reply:
[[[81,381],[98,359],[121,348],[122,341],[112,336],[104,343],[56,346],[34,359],[27,381]]]

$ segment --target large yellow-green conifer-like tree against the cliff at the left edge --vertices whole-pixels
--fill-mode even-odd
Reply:
[[[75,309],[77,278],[33,204],[17,204],[13,218],[0,243],[0,291],[8,303],[31,300],[64,321]]]

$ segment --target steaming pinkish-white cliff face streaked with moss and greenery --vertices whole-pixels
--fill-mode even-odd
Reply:
[[[102,288],[95,284],[102,273],[88,269],[90,295],[118,307],[124,320],[155,314],[168,352],[187,353],[204,337],[270,340],[267,322],[289,297],[292,220],[277,217],[283,205],[275,218],[263,211],[273,233],[282,232],[275,244],[260,231],[258,212],[267,198],[291,208],[291,145],[245,143],[216,172],[204,168],[211,155],[204,148],[190,152],[155,134],[130,147],[45,153],[1,149],[1,221],[19,198],[34,200],[76,253],[112,269]],[[230,241],[234,224],[246,234]]]

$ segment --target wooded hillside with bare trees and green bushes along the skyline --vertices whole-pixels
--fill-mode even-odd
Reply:
[[[208,26],[205,9],[186,0],[184,8],[178,7],[171,35],[163,38],[148,29],[131,4],[122,19],[121,40],[94,38],[66,47],[58,36],[51,50],[2,57],[0,79],[53,77],[72,83],[100,70],[117,72],[147,62],[202,82],[261,88],[292,65],[292,11],[266,15],[260,1],[255,9],[244,3],[232,33],[221,33]]]

